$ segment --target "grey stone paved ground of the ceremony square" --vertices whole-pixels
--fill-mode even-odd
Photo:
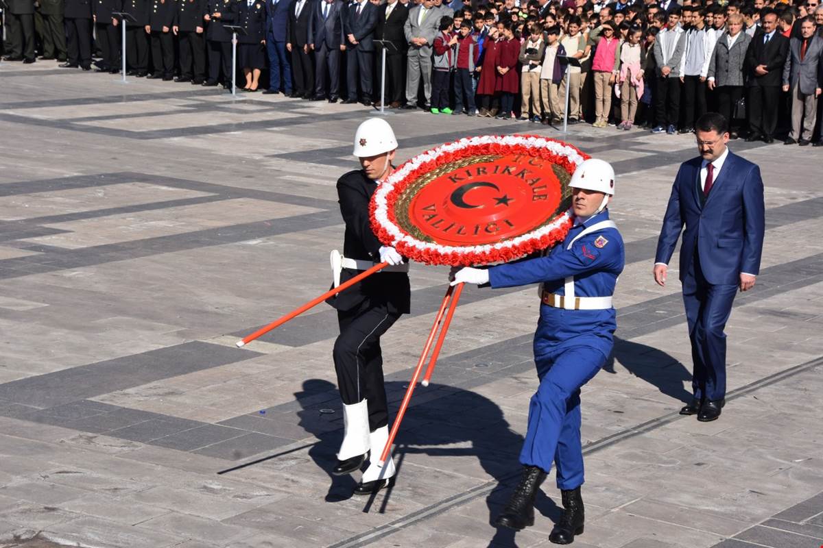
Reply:
[[[534,527],[489,525],[536,385],[533,288],[467,288],[398,437],[398,484],[373,500],[327,472],[342,434],[333,312],[233,347],[328,288],[334,182],[368,115],[0,65],[0,545],[548,544],[551,479]],[[560,136],[419,112],[391,122],[401,159],[459,136]],[[584,389],[588,521],[575,546],[823,546],[821,152],[732,145],[760,163],[768,232],[728,329],[728,405],[700,424],[676,414],[690,370],[679,284],[650,277],[693,138],[566,138],[615,164],[628,262],[613,360]],[[444,279],[412,267],[414,311],[384,340],[395,406]]]

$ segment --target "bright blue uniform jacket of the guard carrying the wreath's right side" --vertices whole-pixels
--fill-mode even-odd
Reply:
[[[586,234],[566,249],[586,227],[608,218],[608,210],[603,210],[585,223],[575,224],[564,242],[544,257],[492,267],[489,269],[491,287],[511,288],[542,282],[546,291],[563,295],[565,278],[574,276],[575,297],[609,297],[614,293],[617,276],[625,265],[620,233],[615,228],[604,228]],[[560,347],[573,346],[597,348],[608,357],[612,334],[617,328],[615,315],[614,308],[567,311],[542,304],[534,334],[535,357],[544,357]]]

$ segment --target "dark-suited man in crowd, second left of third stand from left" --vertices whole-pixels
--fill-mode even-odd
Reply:
[[[309,49],[314,52],[315,101],[326,99],[326,75],[328,74],[328,102],[340,99],[340,61],[346,51],[346,2],[344,0],[319,0],[309,25]]]

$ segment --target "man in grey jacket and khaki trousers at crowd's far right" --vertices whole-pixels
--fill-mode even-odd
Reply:
[[[789,43],[789,54],[783,66],[783,91],[792,92],[792,131],[785,145],[811,143],[817,119],[817,98],[821,94],[821,51],[823,39],[815,35],[816,24],[811,16],[800,21],[800,38]],[[802,123],[802,131],[801,131]]]

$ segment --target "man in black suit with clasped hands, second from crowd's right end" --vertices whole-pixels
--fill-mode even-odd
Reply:
[[[746,140],[774,142],[777,127],[783,64],[788,55],[788,38],[777,31],[777,14],[765,9],[760,16],[762,32],[756,33],[746,51],[749,67],[749,101],[747,105],[751,133]]]

